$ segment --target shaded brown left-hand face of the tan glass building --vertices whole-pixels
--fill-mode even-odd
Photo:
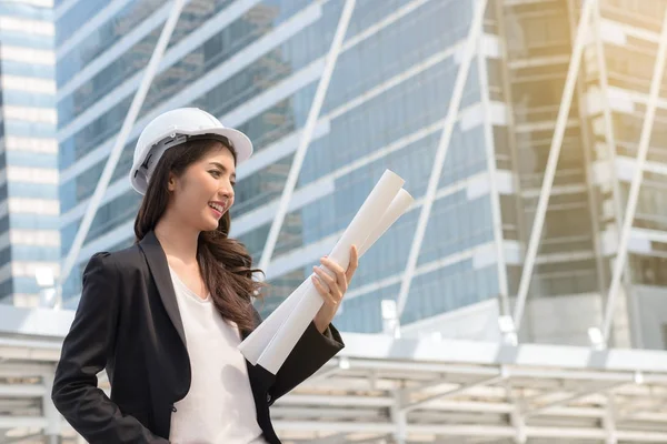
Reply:
[[[539,11],[539,13],[537,13]],[[519,178],[519,218],[525,240],[532,225],[556,117],[560,109],[571,53],[573,29],[567,1],[516,4],[505,10],[516,172]],[[575,27],[576,28],[576,27]],[[566,127],[554,188],[545,219],[531,296],[558,296],[598,290],[594,225],[587,186],[577,91]],[[590,256],[573,261],[573,256]],[[510,287],[518,287],[518,276]],[[576,278],[575,278],[576,276]]]

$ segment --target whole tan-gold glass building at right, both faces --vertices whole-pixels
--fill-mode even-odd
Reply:
[[[538,1],[504,10],[505,74],[514,110],[509,139],[520,178],[524,242],[561,107],[579,6],[578,1]],[[601,306],[607,303],[666,7],[665,1],[603,0],[593,13],[591,39],[584,48],[530,297],[593,294]],[[666,94],[663,84],[660,97]],[[665,286],[660,268],[667,255],[660,246],[667,228],[661,204],[667,185],[666,117],[658,105],[633,222],[623,301],[617,305],[619,315],[631,324],[630,333],[624,339],[619,330],[611,339],[620,346],[667,346],[640,333],[647,330],[645,322],[665,323],[667,314],[654,310],[655,319],[640,317],[649,304],[641,287],[665,290],[660,290]],[[520,266],[510,271],[510,292],[516,291],[519,276]],[[581,331],[585,334],[584,326]]]

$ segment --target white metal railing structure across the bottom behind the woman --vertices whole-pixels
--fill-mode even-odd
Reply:
[[[6,307],[0,317],[23,312]],[[43,407],[67,320],[49,331],[34,321],[13,330],[20,336],[0,331],[0,430],[24,444],[47,433],[74,443],[71,427]],[[667,442],[665,351],[381,334],[344,341],[337,357],[271,407],[285,443]]]

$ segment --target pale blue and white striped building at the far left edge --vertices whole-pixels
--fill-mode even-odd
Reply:
[[[19,306],[59,270],[53,34],[50,1],[0,2],[0,302]]]

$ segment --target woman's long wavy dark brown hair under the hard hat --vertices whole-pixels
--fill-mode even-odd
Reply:
[[[135,220],[136,242],[155,230],[167,210],[170,196],[167,186],[169,173],[180,176],[189,165],[219,148],[220,143],[231,151],[236,163],[236,151],[225,138],[192,140],[165,151],[156,165]],[[222,317],[235,322],[240,330],[248,331],[256,324],[252,296],[259,294],[265,284],[252,280],[252,273],[261,270],[252,269],[252,258],[242,243],[228,238],[230,226],[231,218],[227,211],[216,230],[200,233],[197,262],[216,309]]]

